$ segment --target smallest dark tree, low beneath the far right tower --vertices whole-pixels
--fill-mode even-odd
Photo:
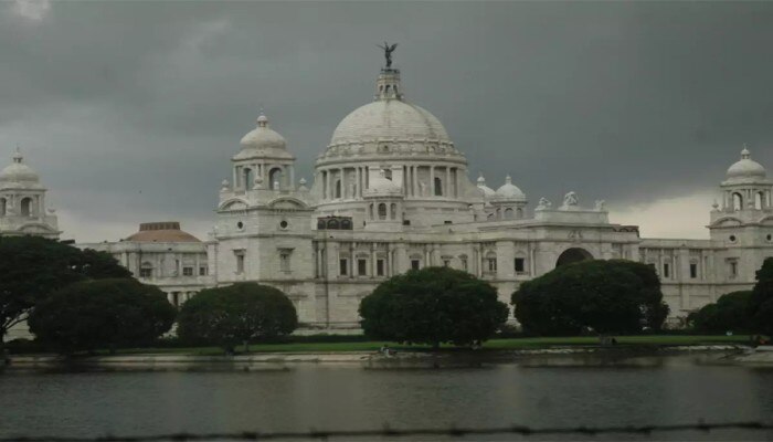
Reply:
[[[701,333],[749,332],[751,296],[751,291],[724,294],[716,303],[690,313],[687,322]]]

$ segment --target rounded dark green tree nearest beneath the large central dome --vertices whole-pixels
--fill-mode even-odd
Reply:
[[[393,276],[360,303],[367,336],[434,348],[442,343],[462,346],[486,340],[508,314],[490,284],[449,267]]]

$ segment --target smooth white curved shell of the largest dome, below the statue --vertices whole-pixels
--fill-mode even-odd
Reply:
[[[443,124],[426,109],[400,99],[379,99],[347,115],[330,145],[393,139],[451,143]]]

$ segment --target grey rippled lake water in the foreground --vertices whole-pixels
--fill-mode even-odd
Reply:
[[[587,357],[531,358],[456,369],[307,365],[263,372],[0,373],[0,436],[351,430],[384,423],[644,425],[764,421],[771,415],[773,370],[705,365],[695,356],[613,364]],[[723,430],[634,438],[773,440],[773,433]],[[443,439],[451,438],[434,438]]]

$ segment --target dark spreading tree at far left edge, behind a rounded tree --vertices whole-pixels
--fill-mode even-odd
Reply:
[[[0,275],[1,346],[8,329],[27,319],[32,307],[54,291],[131,273],[107,253],[40,236],[0,236]]]

